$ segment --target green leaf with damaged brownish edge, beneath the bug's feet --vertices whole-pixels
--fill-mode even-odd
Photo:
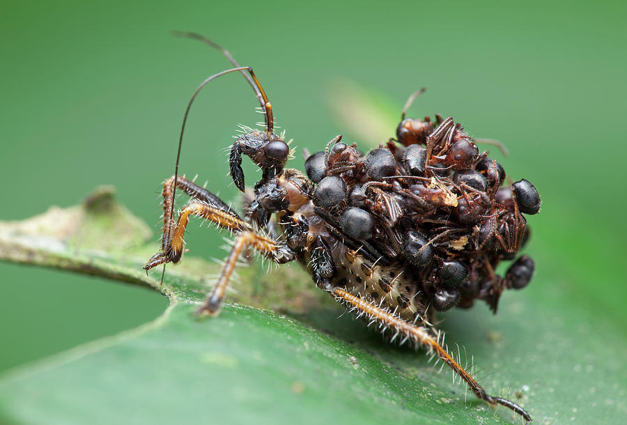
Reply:
[[[154,288],[164,314],[135,330],[78,346],[0,378],[0,419],[15,424],[507,423],[438,373],[423,353],[396,348],[343,314],[297,267],[240,270],[217,318],[193,315],[217,265],[187,255],[146,276],[157,251],[146,225],[101,188],[82,206],[0,224],[0,258]],[[539,281],[540,280],[540,281]],[[624,417],[627,347],[594,315],[560,307],[550,282],[507,294],[501,312],[447,314],[449,346],[474,356],[488,390],[527,405],[537,423]],[[327,299],[328,298],[328,299]],[[70,301],[68,301],[70,302]],[[73,302],[82,302],[74,300]],[[281,314],[270,311],[281,311]],[[341,318],[338,318],[341,316]],[[607,353],[611,352],[611,355]]]

